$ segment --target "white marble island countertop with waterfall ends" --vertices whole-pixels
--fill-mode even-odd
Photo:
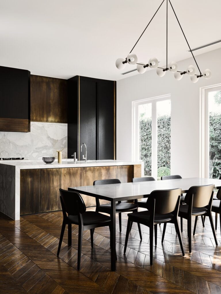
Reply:
[[[20,219],[20,170],[42,168],[78,168],[93,166],[127,166],[141,164],[144,176],[143,161],[97,160],[77,161],[64,159],[62,163],[53,162],[46,164],[38,160],[4,160],[0,161],[0,211],[7,216]]]

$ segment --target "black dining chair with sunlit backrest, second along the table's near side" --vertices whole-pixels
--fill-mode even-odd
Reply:
[[[192,186],[187,191],[185,203],[179,207],[179,217],[187,219],[187,235],[189,240],[189,253],[191,253],[191,219],[195,216],[193,235],[195,235],[198,216],[208,216],[212,227],[216,245],[216,233],[212,219],[212,200],[215,185]]]

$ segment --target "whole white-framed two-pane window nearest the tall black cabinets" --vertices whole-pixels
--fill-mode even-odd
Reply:
[[[144,161],[144,175],[170,175],[169,95],[133,101],[133,159]]]

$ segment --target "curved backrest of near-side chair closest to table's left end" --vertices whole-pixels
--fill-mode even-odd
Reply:
[[[152,209],[152,201],[153,199],[155,199],[155,213],[171,213],[176,208],[178,209],[177,201],[179,196],[181,195],[181,192],[182,190],[180,188],[172,190],[152,191],[146,201],[147,209]]]

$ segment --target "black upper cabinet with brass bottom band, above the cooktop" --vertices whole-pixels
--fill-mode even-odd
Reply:
[[[0,131],[30,131],[30,71],[0,66]]]

